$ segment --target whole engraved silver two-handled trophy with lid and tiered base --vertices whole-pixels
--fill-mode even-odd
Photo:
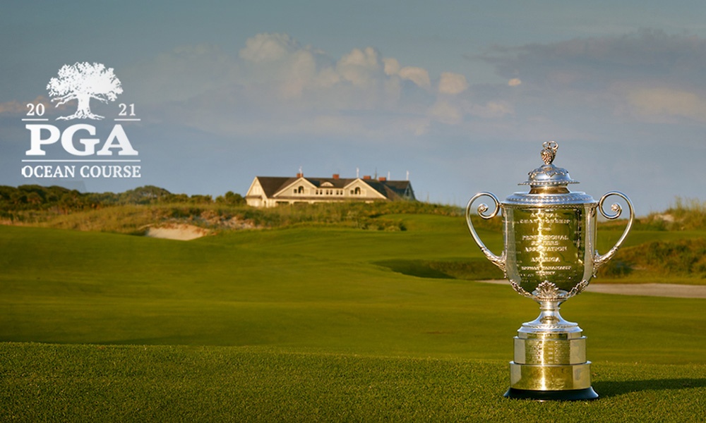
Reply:
[[[584,192],[571,192],[578,183],[566,169],[552,164],[558,145],[545,142],[544,165],[529,173],[520,185],[530,192],[515,192],[500,202],[491,192],[479,192],[469,200],[466,221],[484,255],[505,272],[517,293],[539,302],[539,317],[522,324],[515,336],[515,357],[510,362],[508,398],[535,400],[592,400],[591,362],[586,360],[586,337],[578,324],[564,320],[559,306],[584,290],[597,269],[611,259],[623,243],[635,214],[626,195],[612,191],[596,202]],[[595,250],[597,209],[606,219],[617,219],[622,209],[613,204],[604,212],[607,197],[621,197],[628,204],[630,219],[616,245],[604,255]],[[489,197],[477,212],[483,219],[503,215],[504,249],[494,255],[481,241],[471,222],[471,207],[480,197]]]

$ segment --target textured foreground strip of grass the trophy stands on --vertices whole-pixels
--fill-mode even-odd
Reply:
[[[0,344],[5,421],[700,422],[706,366],[594,364],[592,402],[507,400],[507,362]]]

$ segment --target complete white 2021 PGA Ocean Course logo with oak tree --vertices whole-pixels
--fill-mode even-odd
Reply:
[[[64,65],[47,84],[52,103],[61,106],[76,100],[76,113],[59,116],[57,121],[101,120],[90,109],[91,99],[108,104],[123,93],[113,68],[102,63],[76,62]],[[25,178],[141,178],[141,160],[123,128],[124,123],[139,122],[135,104],[118,104],[109,123],[49,123],[43,102],[27,104],[22,118],[29,131],[30,149],[20,173]],[[114,110],[115,111],[115,110]],[[109,130],[105,135],[102,131]],[[66,158],[68,155],[68,158]]]

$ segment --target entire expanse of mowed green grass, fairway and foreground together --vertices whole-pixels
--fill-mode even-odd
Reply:
[[[381,264],[484,260],[462,219],[395,219],[408,230],[301,227],[189,242],[0,226],[0,419],[705,415],[706,300],[582,293],[562,313],[588,336],[602,398],[505,400],[513,336],[537,305],[507,285]],[[599,249],[619,235],[599,233]],[[497,234],[481,236],[501,251]]]

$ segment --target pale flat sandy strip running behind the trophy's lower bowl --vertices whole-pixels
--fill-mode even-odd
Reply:
[[[508,284],[508,281],[479,281]],[[646,295],[648,297],[706,298],[704,285],[676,285],[671,283],[591,283],[587,292],[616,295]]]

